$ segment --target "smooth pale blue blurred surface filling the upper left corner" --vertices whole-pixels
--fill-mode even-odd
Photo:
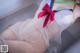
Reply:
[[[39,0],[0,0],[0,18],[10,15]]]

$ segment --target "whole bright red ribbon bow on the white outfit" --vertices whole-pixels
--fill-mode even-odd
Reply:
[[[49,20],[53,21],[54,20],[54,11],[50,9],[50,6],[46,4],[43,9],[43,11],[39,13],[38,18],[42,18],[43,16],[47,15],[45,18],[45,21],[43,23],[43,27],[47,26]]]

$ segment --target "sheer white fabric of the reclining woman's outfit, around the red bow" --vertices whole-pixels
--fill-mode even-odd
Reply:
[[[37,18],[39,12],[41,12],[43,6],[47,2],[49,2],[49,0],[43,0],[41,2],[39,9],[37,10],[37,12],[34,16],[34,19],[27,20],[24,22],[19,22],[11,27],[11,29],[16,33],[16,36],[18,37],[19,40],[27,39],[27,41],[33,42],[33,39],[35,40],[35,37],[38,37],[38,36],[36,36],[34,34],[28,35],[29,33],[27,33],[27,32],[31,31],[32,29],[35,29],[35,31],[33,31],[33,32],[36,33],[37,31],[40,31],[41,37],[44,39],[45,43],[47,45],[49,45],[48,28],[47,27],[42,28],[43,22],[45,20],[45,16],[40,20]],[[69,27],[71,25],[71,23],[73,23],[73,13],[68,10],[60,11],[55,14],[55,21],[59,25],[60,29],[64,30],[67,27]],[[29,27],[29,28],[27,28],[27,27]]]

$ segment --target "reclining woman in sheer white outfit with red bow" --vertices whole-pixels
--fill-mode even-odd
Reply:
[[[48,25],[43,28],[42,25],[45,20],[45,16],[40,20],[37,17],[45,4],[50,1],[51,0],[43,0],[41,2],[34,19],[19,22],[2,33],[2,38],[4,38],[5,44],[9,45],[10,53],[44,53],[46,48],[49,46],[49,40],[58,32],[66,29],[77,19],[76,17],[73,19],[72,11],[68,11],[70,14],[64,16],[63,19],[59,19],[59,17],[57,17],[59,13],[55,11],[55,20],[48,23]],[[61,9],[73,9],[74,4],[65,4],[64,6],[54,4],[52,10],[60,11]],[[62,12],[64,11],[61,11],[61,13]],[[69,20],[69,22],[65,22],[64,20],[66,19]],[[64,25],[66,25],[65,28],[63,28]]]

